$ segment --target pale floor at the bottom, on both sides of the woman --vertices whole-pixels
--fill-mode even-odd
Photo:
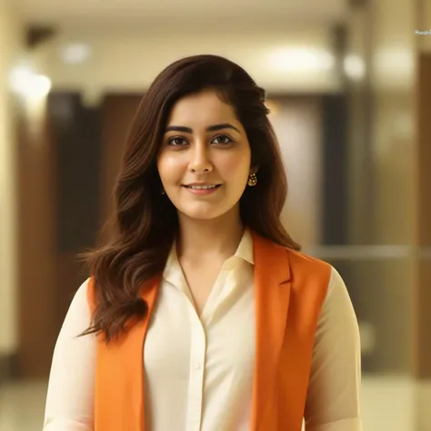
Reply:
[[[45,391],[40,382],[0,388],[0,431],[42,431]],[[415,386],[408,379],[364,378],[362,406],[364,431],[416,431]]]

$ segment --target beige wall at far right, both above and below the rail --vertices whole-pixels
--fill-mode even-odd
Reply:
[[[350,239],[416,245],[416,17],[412,0],[371,0],[353,9],[349,54],[366,65],[352,80]],[[374,366],[413,370],[413,256],[367,259],[354,268],[361,304],[376,329]]]

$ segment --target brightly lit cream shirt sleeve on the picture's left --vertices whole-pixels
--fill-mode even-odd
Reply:
[[[55,344],[43,431],[93,431],[95,336],[90,325],[88,280],[79,287]]]

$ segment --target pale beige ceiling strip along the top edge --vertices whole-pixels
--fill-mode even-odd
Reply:
[[[26,23],[59,27],[218,26],[334,23],[346,19],[347,0],[13,0]]]

